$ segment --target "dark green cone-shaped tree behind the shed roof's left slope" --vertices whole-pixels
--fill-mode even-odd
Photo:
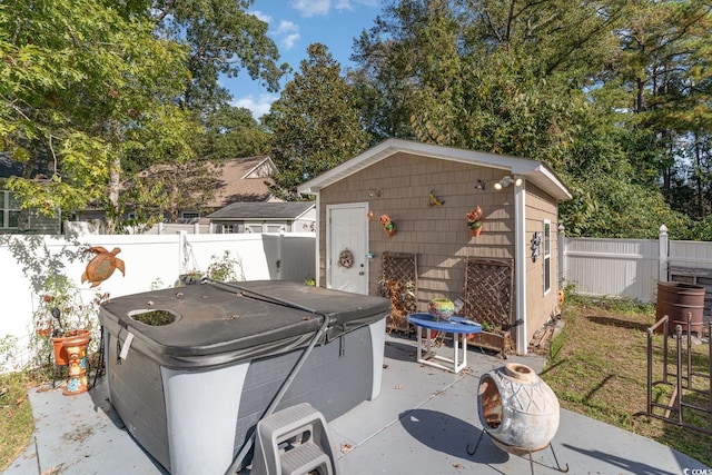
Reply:
[[[327,48],[310,44],[308,58],[271,106],[265,123],[274,133],[277,167],[273,192],[298,200],[297,186],[354,155],[368,144],[354,106],[353,89]]]

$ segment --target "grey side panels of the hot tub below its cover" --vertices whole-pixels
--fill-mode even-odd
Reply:
[[[332,420],[377,397],[384,326],[385,318],[316,346],[277,410],[310,403]],[[177,474],[208,466],[216,473],[227,469],[304,352],[222,368],[168,369],[136,345],[119,359],[125,339],[105,328],[111,404],[139,444]],[[233,373],[245,367],[244,379],[235,377]],[[204,397],[194,397],[200,395]],[[220,439],[230,447],[217,447],[211,435],[198,436],[201,428],[221,434]],[[206,458],[205,454],[211,455]]]

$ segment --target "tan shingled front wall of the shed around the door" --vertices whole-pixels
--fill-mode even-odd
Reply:
[[[496,191],[493,184],[506,172],[456,161],[397,154],[322,190],[319,221],[326,222],[326,206],[368,202],[374,212],[369,222],[369,294],[377,295],[384,251],[415,253],[418,256],[418,310],[436,297],[458,298],[465,285],[465,258],[514,257],[514,187]],[[475,189],[477,180],[486,189]],[[380,197],[368,197],[379,189]],[[443,206],[428,207],[428,192]],[[481,236],[471,237],[465,215],[479,205],[484,211]],[[397,232],[388,238],[378,217],[387,214]],[[326,281],[326,226],[319,229],[319,275]]]

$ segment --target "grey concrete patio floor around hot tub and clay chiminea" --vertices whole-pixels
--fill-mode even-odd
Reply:
[[[469,349],[467,367],[455,375],[417,364],[415,337],[400,335],[387,336],[385,357],[380,396],[329,423],[340,474],[531,473],[528,458],[501,451],[486,435],[474,455],[467,452],[482,434],[479,376],[502,366],[502,358]],[[545,364],[540,356],[507,362],[537,373]],[[6,474],[167,473],[125,429],[108,402],[105,378],[71,397],[62,396],[61,388],[39,388],[30,393],[30,402],[33,437]],[[571,474],[678,475],[710,469],[654,441],[565,409],[552,448]],[[533,468],[536,474],[560,473],[550,448],[533,454]]]

